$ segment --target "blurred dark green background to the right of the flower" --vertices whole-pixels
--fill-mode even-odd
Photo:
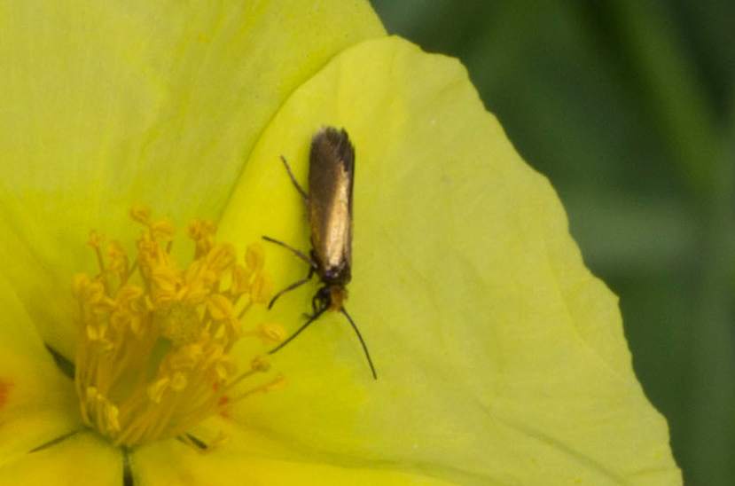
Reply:
[[[735,484],[735,2],[371,0],[462,59],[621,298],[688,486]]]

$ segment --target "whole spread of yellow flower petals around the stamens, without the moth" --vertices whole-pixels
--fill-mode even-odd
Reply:
[[[17,0],[0,31],[0,483],[681,482],[614,295],[456,60],[344,0]],[[324,124],[356,146],[347,306],[379,380],[331,313],[270,358],[283,389],[195,426],[227,436],[206,455],[85,426],[46,346],[76,356],[69,287],[96,273],[90,229],[124,246],[145,200],[178,227],[214,219],[237,255],[262,235],[307,251],[279,156],[305,180]],[[263,246],[275,287],[305,276]],[[293,332],[316,285],[248,323]]]

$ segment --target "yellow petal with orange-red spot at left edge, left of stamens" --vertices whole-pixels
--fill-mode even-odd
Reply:
[[[74,381],[59,371],[17,295],[2,278],[0,302],[3,309],[0,466],[3,466],[44,443],[82,428],[82,418]],[[2,469],[0,478],[4,478]]]

